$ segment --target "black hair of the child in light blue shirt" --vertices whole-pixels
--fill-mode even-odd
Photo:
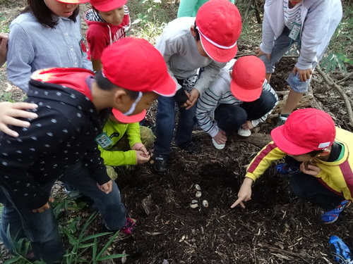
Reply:
[[[54,16],[53,12],[47,7],[44,0],[27,0],[28,6],[23,9],[22,13],[33,13],[38,22],[44,27],[55,28],[58,25],[58,19]],[[68,17],[76,23],[76,17],[80,11],[79,6],[73,11],[73,14]]]

